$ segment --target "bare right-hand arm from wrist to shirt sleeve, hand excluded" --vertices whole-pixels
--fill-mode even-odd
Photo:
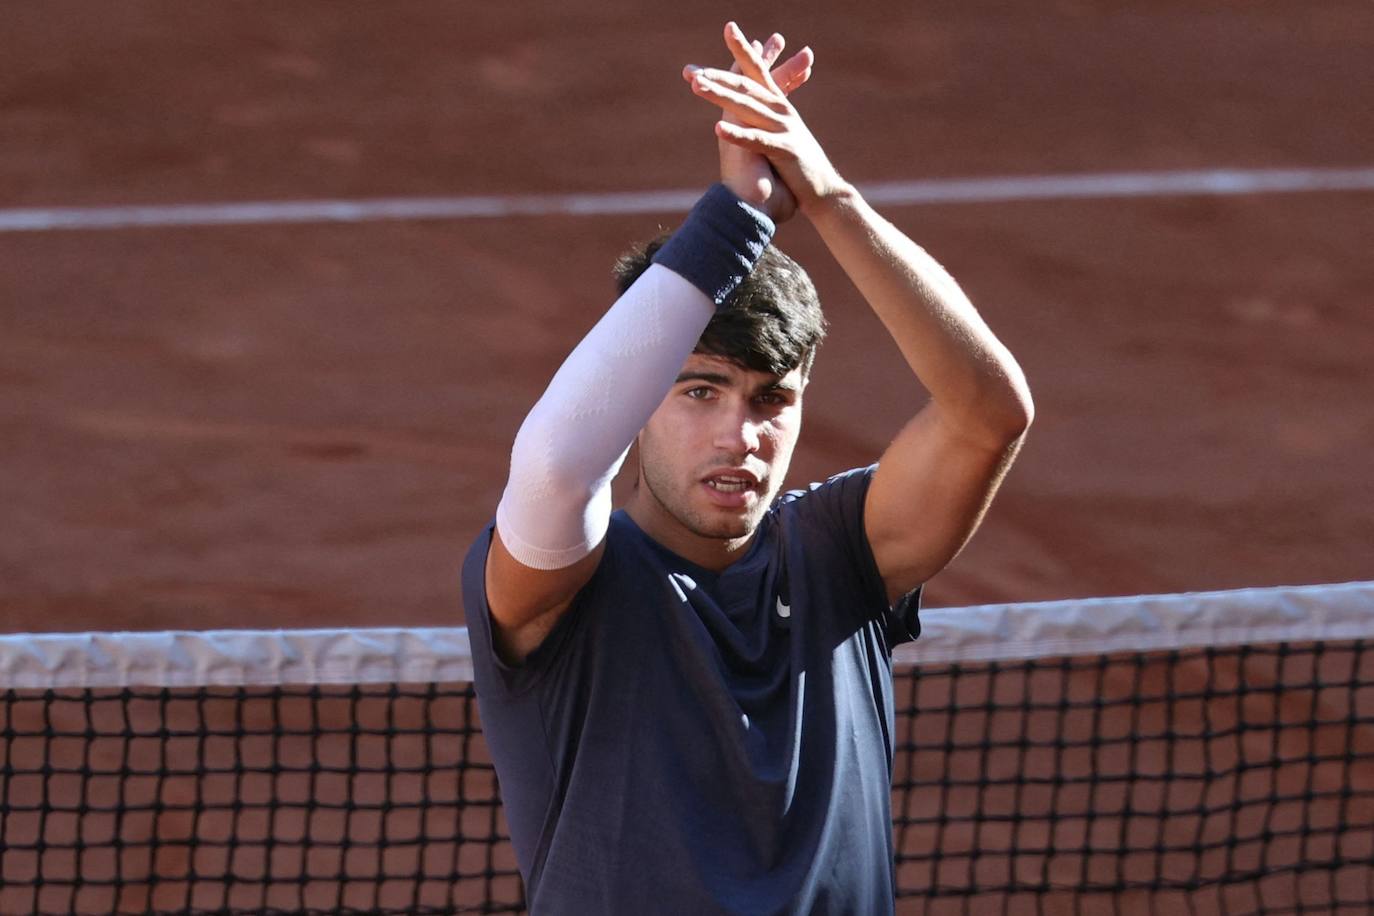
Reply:
[[[857,191],[841,185],[804,211],[930,393],[882,453],[864,503],[894,600],[977,530],[1035,407],[1021,367],[954,279]]]

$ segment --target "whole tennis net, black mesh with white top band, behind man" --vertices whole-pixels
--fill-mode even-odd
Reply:
[[[1374,909],[1374,582],[927,610],[901,913]],[[0,637],[0,912],[521,912],[467,634]]]

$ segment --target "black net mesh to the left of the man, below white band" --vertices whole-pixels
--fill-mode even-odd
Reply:
[[[7,691],[0,913],[521,912],[467,684]]]

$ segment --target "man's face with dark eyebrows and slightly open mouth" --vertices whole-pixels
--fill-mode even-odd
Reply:
[[[804,385],[801,369],[779,378],[692,353],[639,437],[655,516],[705,538],[752,536],[787,475]]]

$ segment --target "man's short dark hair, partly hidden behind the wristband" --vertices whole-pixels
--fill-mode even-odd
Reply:
[[[621,294],[649,269],[671,233],[636,244],[616,261]],[[757,372],[811,375],[816,347],[826,336],[820,297],[801,265],[769,244],[697,342],[698,353],[720,356]]]

